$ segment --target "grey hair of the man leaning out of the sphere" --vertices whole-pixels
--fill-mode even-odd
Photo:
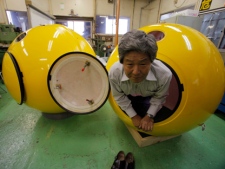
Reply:
[[[124,56],[131,51],[147,54],[152,63],[156,58],[157,50],[158,46],[155,37],[141,30],[127,32],[118,45],[120,63],[123,63]]]

